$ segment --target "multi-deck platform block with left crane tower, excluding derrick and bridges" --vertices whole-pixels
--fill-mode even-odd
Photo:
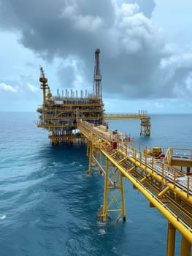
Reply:
[[[43,92],[42,106],[37,108],[39,119],[37,127],[48,130],[49,138],[53,144],[57,143],[85,143],[85,137],[77,131],[77,119],[89,121],[93,124],[103,123],[104,104],[101,97],[83,95],[77,97],[77,91],[66,91],[66,95],[53,97],[47,78],[42,69],[39,81]]]

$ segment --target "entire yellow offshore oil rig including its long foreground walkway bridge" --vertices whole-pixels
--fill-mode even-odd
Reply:
[[[42,107],[38,108],[38,127],[50,132],[53,144],[85,143],[88,173],[104,176],[104,199],[99,221],[126,220],[123,180],[144,195],[167,219],[166,256],[174,256],[176,230],[181,234],[180,256],[191,256],[192,244],[192,149],[134,147],[134,141],[120,132],[110,131],[106,120],[139,118],[140,135],[150,135],[150,116],[104,113],[99,69],[99,49],[95,52],[93,94],[66,89],[55,97],[47,85],[42,68]]]

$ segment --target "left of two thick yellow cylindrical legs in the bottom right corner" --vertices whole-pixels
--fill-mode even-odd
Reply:
[[[166,256],[174,256],[174,246],[175,246],[175,227],[172,225],[172,223],[168,222]]]

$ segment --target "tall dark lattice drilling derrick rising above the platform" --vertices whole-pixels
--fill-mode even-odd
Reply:
[[[94,70],[94,82],[93,82],[93,96],[101,98],[102,102],[102,91],[101,91],[101,80],[102,76],[100,74],[99,68],[99,53],[100,50],[95,51],[95,70]]]

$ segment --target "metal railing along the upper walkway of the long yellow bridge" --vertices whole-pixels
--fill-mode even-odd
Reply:
[[[81,130],[81,127],[84,128],[84,132],[89,131],[92,134],[96,135],[98,140],[105,140],[109,144],[112,142],[114,137],[112,135],[104,134],[104,132],[99,131],[97,127],[94,127],[93,124],[82,121],[78,123],[78,129]],[[121,151],[124,156],[127,156],[129,161],[134,162],[138,167],[141,167],[142,170],[145,170],[148,174],[156,178],[163,186],[169,186],[170,189],[176,189],[176,192],[179,192],[179,189],[183,193],[179,193],[183,199],[188,200],[192,204],[192,177],[186,176],[184,173],[180,172],[173,166],[164,163],[160,159],[155,159],[139,149],[129,146],[127,143],[117,140],[118,150]],[[174,148],[176,149],[176,148]],[[191,149],[188,151],[192,151]],[[171,151],[170,151],[171,152]],[[168,153],[171,154],[171,153]],[[171,186],[170,186],[171,185]],[[190,197],[190,199],[189,199]]]

